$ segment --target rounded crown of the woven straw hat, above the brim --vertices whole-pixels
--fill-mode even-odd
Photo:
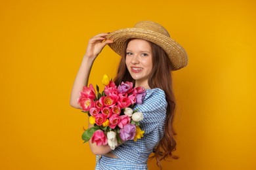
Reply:
[[[166,37],[170,37],[168,31],[160,24],[152,21],[141,21],[135,24],[136,28],[146,29],[150,31],[154,31],[156,33],[161,33],[161,35],[165,35]]]

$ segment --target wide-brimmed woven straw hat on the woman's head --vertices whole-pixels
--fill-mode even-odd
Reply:
[[[188,64],[188,56],[184,48],[171,39],[163,26],[155,22],[138,22],[134,27],[118,29],[110,33],[106,38],[114,41],[114,43],[108,45],[120,56],[123,52],[125,41],[128,39],[144,39],[158,44],[165,50],[171,60],[171,69],[173,71],[181,69]]]

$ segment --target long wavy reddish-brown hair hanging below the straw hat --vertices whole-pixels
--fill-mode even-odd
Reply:
[[[131,40],[132,39],[129,39],[127,42],[125,42],[121,61],[117,69],[117,76],[114,79],[116,84],[120,84],[122,81],[130,81],[135,83],[135,80],[133,80],[131,77],[125,64],[126,48]],[[166,160],[167,158],[179,158],[172,153],[176,150],[176,141],[174,139],[174,135],[177,134],[173,129],[176,102],[175,95],[173,93],[173,83],[170,67],[171,61],[165,51],[160,48],[160,46],[154,44],[153,42],[150,42],[150,45],[152,48],[153,68],[148,78],[148,85],[150,88],[160,88],[163,90],[165,92],[165,99],[167,101],[164,135],[160,143],[158,143],[158,146],[154,148],[154,156],[150,157],[156,158],[157,165],[161,169],[161,160]]]

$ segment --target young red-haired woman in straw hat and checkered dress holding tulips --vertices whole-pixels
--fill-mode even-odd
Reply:
[[[144,130],[144,137],[136,142],[129,140],[121,143],[115,150],[108,145],[96,146],[89,141],[91,151],[97,155],[95,169],[148,169],[147,161],[152,152],[160,167],[160,160],[168,157],[177,159],[172,154],[176,143],[173,138],[175,97],[171,71],[187,65],[185,50],[170,38],[164,27],[150,21],[96,35],[89,40],[75,78],[70,97],[72,107],[81,109],[77,104],[79,92],[83,86],[87,86],[93,62],[106,44],[121,56],[114,82],[121,84],[122,81],[131,81],[135,87],[146,89],[142,105],[134,108],[143,113],[140,128]]]

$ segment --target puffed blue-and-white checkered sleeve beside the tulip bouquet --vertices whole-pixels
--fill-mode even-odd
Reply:
[[[142,112],[144,116],[140,121],[140,128],[145,135],[152,131],[163,133],[166,107],[167,102],[163,90],[155,88],[147,91],[142,105],[137,105],[139,112]]]

